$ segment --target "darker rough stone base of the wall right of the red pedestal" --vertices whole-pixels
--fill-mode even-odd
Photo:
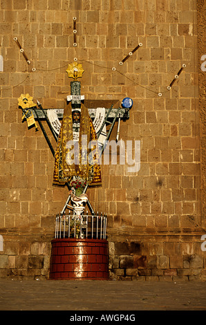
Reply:
[[[205,279],[204,254],[200,253],[199,237],[187,239],[172,236],[148,236],[142,241],[110,244],[111,279],[136,281],[192,281]]]

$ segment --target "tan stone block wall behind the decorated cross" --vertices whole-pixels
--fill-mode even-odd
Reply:
[[[197,3],[201,12],[204,1]],[[18,97],[29,93],[45,109],[64,109],[66,68],[77,57],[86,100],[133,99],[120,138],[141,142],[140,171],[103,165],[102,187],[88,189],[95,210],[108,214],[111,277],[204,279],[205,119],[198,73],[205,48],[201,43],[198,53],[196,0],[1,0],[0,17],[0,276],[48,277],[55,215],[68,190],[53,187],[53,156],[41,131],[21,123]],[[200,43],[203,29],[199,37]],[[201,91],[204,81],[199,84]]]

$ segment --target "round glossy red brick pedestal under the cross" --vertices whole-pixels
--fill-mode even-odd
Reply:
[[[108,241],[53,239],[50,279],[109,279]]]

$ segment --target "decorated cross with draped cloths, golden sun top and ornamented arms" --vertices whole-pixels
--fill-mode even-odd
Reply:
[[[77,64],[77,62],[68,64],[66,72],[68,77],[73,78],[73,81],[71,82],[71,95],[67,96],[67,105],[64,110],[43,109],[39,101],[37,100],[37,105],[34,104],[32,97],[28,94],[22,94],[19,97],[19,107],[23,111],[23,120],[31,121],[28,127],[35,125],[37,128],[36,120],[39,122],[39,127],[55,157],[53,185],[66,185],[69,189],[68,198],[60,215],[63,215],[67,208],[74,210],[74,207],[83,206],[85,203],[91,213],[95,214],[86,196],[86,190],[88,186],[102,184],[100,156],[117,120],[116,142],[118,142],[120,120],[129,119],[129,110],[133,101],[126,97],[122,100],[122,107],[116,108],[113,107],[115,101],[103,101],[109,102],[106,103],[106,108],[105,103],[103,107],[96,107],[95,101],[92,101],[87,108],[84,105],[84,95],[81,95],[81,83],[77,80],[84,73],[82,64]],[[59,118],[62,118],[62,124]],[[41,120],[46,120],[53,133],[57,141],[56,150],[51,145]],[[69,204],[70,201],[72,205]]]

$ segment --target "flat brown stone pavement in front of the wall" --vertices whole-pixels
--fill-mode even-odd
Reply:
[[[0,310],[206,310],[205,281],[0,279]]]

